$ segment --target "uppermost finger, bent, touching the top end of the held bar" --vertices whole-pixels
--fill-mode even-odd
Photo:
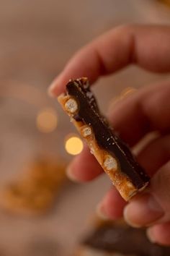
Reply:
[[[128,64],[152,72],[170,71],[170,27],[126,25],[116,27],[78,51],[50,86],[50,94],[63,93],[69,79],[88,77],[93,83]]]

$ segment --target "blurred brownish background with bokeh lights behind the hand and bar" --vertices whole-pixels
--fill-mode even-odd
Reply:
[[[127,22],[170,24],[169,0],[0,0],[0,256],[72,255],[109,188],[105,176],[66,179],[82,142],[47,89],[76,50]],[[129,67],[94,91],[106,111],[133,88],[169,77]]]

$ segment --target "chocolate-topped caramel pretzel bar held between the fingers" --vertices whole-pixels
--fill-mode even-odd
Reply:
[[[66,93],[61,94],[58,101],[120,195],[128,201],[142,191],[149,177],[135,161],[128,146],[100,114],[87,78],[70,80],[66,85]]]

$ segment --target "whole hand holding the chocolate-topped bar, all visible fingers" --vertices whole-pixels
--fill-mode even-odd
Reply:
[[[130,64],[151,72],[170,72],[170,27],[123,25],[110,30],[73,56],[49,93],[53,97],[63,93],[70,78],[89,77],[92,84]],[[113,127],[130,147],[148,132],[158,131],[159,136],[137,155],[151,176],[148,189],[126,203],[112,187],[98,210],[112,219],[124,216],[131,226],[146,226],[151,242],[170,245],[170,81],[138,90],[109,112]],[[84,166],[79,168],[81,163]],[[86,146],[68,168],[68,176],[78,182],[88,182],[102,173]]]

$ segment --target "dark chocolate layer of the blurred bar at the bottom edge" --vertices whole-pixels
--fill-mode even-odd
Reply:
[[[120,252],[125,255],[169,256],[170,247],[163,247],[148,241],[146,231],[129,226],[100,226],[82,242],[89,247],[106,252]]]

